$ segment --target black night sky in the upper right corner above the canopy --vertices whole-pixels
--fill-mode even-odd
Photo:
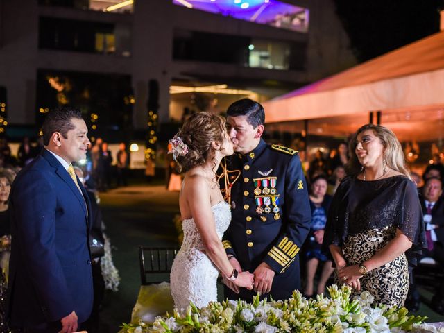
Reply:
[[[359,62],[439,31],[444,0],[334,0]]]

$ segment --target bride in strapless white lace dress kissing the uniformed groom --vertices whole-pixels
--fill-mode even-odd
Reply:
[[[170,144],[169,153],[185,171],[179,197],[184,239],[171,268],[171,293],[179,310],[190,302],[205,307],[217,301],[219,272],[234,289],[253,288],[253,274],[234,269],[221,242],[231,212],[216,170],[224,156],[232,155],[233,146],[225,119],[209,113],[189,117]]]

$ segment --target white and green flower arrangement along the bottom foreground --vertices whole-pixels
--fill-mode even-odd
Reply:
[[[307,300],[299,291],[287,300],[210,302],[198,309],[192,303],[180,314],[157,317],[154,323],[124,324],[126,333],[389,333],[444,332],[422,323],[427,317],[409,316],[404,307],[372,307],[373,296],[364,291],[350,299],[352,289],[343,285],[327,288],[330,298],[318,295]]]

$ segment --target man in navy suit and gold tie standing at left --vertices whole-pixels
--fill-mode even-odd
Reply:
[[[10,194],[12,248],[6,316],[17,332],[76,332],[92,309],[89,199],[71,162],[86,157],[78,110],[51,111],[42,153]],[[72,175],[72,176],[71,176]]]

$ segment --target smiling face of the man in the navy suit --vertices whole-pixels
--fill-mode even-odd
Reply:
[[[74,126],[67,133],[67,138],[60,136],[60,156],[67,162],[78,162],[86,158],[86,151],[90,144],[87,137],[88,129],[83,119],[72,118]]]

